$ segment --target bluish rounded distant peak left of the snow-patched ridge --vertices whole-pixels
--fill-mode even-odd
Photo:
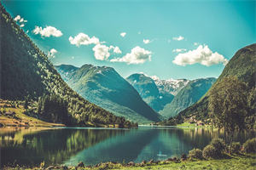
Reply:
[[[144,74],[132,74],[127,77],[126,80],[131,83],[133,88],[137,90],[143,100],[152,107],[154,111],[162,110],[164,106],[170,103],[173,99],[172,94],[169,94],[164,90],[160,92],[154,80]]]

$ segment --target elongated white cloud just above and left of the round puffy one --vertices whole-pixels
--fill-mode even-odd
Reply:
[[[79,33],[76,37],[69,37],[69,42],[79,47],[80,45],[99,44],[100,40],[97,37],[89,37],[83,32]]]

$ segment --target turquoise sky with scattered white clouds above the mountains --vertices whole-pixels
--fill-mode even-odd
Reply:
[[[218,77],[256,42],[256,1],[1,0],[54,65],[113,67],[122,77]]]

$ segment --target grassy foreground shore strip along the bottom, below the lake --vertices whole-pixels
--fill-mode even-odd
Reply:
[[[107,170],[107,169],[128,169],[128,170],[177,170],[177,169],[234,169],[234,170],[254,170],[256,169],[256,154],[253,155],[236,155],[229,156],[226,159],[220,160],[176,160],[176,161],[153,161],[153,162],[142,162],[142,163],[101,163],[95,167],[65,167],[65,166],[50,166],[50,167],[3,167],[3,170],[18,170],[18,169],[78,169],[78,170]]]

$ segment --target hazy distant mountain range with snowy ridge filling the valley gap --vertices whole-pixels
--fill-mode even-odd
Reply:
[[[160,80],[143,73],[132,74],[126,80],[137,89],[143,100],[161,116],[176,116],[189,105],[193,105],[207,93],[216,78]],[[173,95],[175,94],[175,95]]]

